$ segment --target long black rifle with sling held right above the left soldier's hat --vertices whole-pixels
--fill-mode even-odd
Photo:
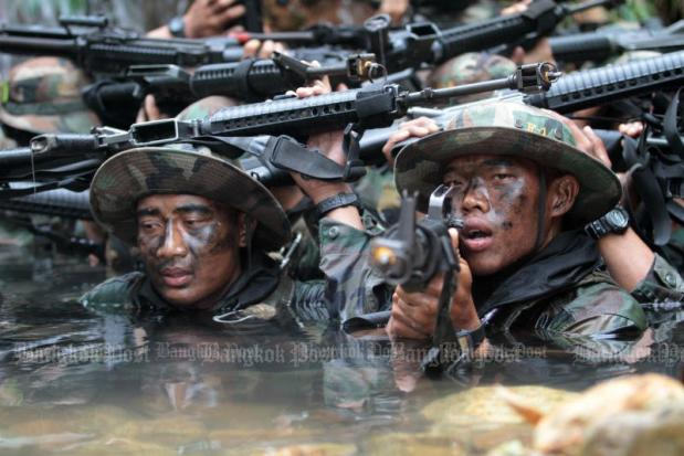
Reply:
[[[309,98],[281,98],[270,103],[224,108],[207,119],[165,119],[134,124],[127,131],[108,127],[88,135],[40,135],[30,148],[0,153],[0,182],[27,180],[31,176],[55,182],[87,176],[107,156],[143,146],[177,141],[210,141],[217,148],[228,145],[225,153],[257,156],[270,173],[295,171],[322,180],[355,180],[364,176],[359,138],[367,128],[385,127],[402,117],[410,106],[498,88],[524,93],[548,89],[559,73],[547,64],[523,65],[508,77],[442,89],[402,91],[396,84],[332,93]],[[346,127],[346,128],[345,128]],[[298,140],[309,134],[345,128],[347,162],[339,166],[312,152]],[[265,147],[252,148],[253,138],[272,135]],[[236,150],[239,149],[239,150]],[[55,161],[62,166],[54,169]],[[74,162],[76,160],[76,162]],[[90,170],[90,171],[88,171]]]

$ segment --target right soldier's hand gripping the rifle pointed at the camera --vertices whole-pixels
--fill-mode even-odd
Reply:
[[[457,252],[459,235],[450,230],[452,246]],[[473,330],[480,326],[480,318],[471,294],[473,276],[467,263],[459,259],[461,272],[455,273],[456,293],[451,300],[451,320],[454,329]],[[392,310],[387,325],[390,338],[429,339],[434,335],[438,305],[442,293],[443,276],[435,275],[423,291],[408,293],[398,286],[392,295]]]

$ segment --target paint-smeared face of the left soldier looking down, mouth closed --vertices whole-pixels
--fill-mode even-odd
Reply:
[[[240,276],[243,215],[188,194],[156,194],[137,206],[138,248],[169,304],[210,308]]]

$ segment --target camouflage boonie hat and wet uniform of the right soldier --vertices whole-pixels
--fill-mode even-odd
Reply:
[[[577,177],[580,192],[566,219],[570,231],[505,277],[474,277],[473,298],[490,335],[512,329],[533,330],[545,338],[639,335],[646,327],[639,301],[652,300],[648,295],[653,289],[681,285],[678,276],[675,286],[646,278],[630,295],[602,271],[596,243],[572,226],[583,226],[612,209],[621,188],[608,168],[575,144],[570,130],[543,112],[497,103],[455,113],[445,131],[407,146],[397,158],[397,187],[418,191],[423,212],[428,195],[441,183],[444,162],[457,156],[519,156]],[[344,277],[336,289],[341,296],[336,301],[346,303],[343,318],[388,309],[391,289],[369,267],[370,235],[329,220],[320,226],[322,268],[330,277]],[[661,259],[655,274],[664,271]]]

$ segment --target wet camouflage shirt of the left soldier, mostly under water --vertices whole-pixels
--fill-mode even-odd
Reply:
[[[324,280],[296,282],[281,274],[265,254],[253,255],[250,268],[211,309],[220,322],[267,320],[290,316],[303,321],[327,321]],[[80,301],[95,310],[134,314],[167,314],[175,309],[154,289],[146,274],[135,272],[113,277],[83,295]]]

